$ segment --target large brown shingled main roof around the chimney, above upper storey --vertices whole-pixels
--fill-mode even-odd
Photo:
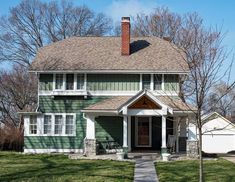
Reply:
[[[39,49],[31,71],[187,72],[184,53],[157,37],[131,38],[121,55],[121,37],[71,37]]]

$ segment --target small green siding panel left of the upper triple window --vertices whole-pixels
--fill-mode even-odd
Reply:
[[[40,74],[39,90],[52,90],[52,89],[53,89],[53,74]]]

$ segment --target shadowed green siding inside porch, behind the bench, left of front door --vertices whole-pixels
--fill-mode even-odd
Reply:
[[[106,149],[106,141],[115,141],[121,147],[123,143],[123,118],[118,116],[100,116],[95,119],[95,137]]]

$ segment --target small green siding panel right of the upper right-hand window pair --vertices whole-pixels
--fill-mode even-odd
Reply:
[[[179,91],[179,75],[164,75],[165,91]]]

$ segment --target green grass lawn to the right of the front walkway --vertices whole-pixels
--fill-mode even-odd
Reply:
[[[198,160],[158,162],[157,174],[160,182],[198,182]],[[224,159],[204,161],[206,182],[235,181],[235,164]]]

